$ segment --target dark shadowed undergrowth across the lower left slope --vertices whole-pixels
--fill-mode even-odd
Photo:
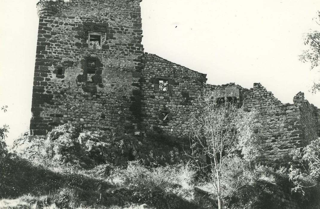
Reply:
[[[112,182],[111,177],[109,179],[95,177],[90,170],[44,168],[21,158],[15,158],[8,163],[6,171],[0,174],[2,182],[0,196],[3,197],[0,207],[55,208],[55,203],[66,199],[68,203],[65,205],[71,208],[81,205],[88,208],[170,208],[165,204],[172,202],[179,203],[175,208],[200,208],[199,205],[178,196],[176,192],[164,191],[168,188],[164,186],[167,182],[159,181],[159,185],[151,185],[153,181],[151,180],[148,188],[141,184],[136,187],[130,182],[126,184]],[[178,190],[181,189],[180,185],[176,187]],[[159,197],[156,197],[157,195]],[[147,199],[141,200],[143,196]],[[143,205],[143,202],[148,202],[151,206]],[[163,206],[158,207],[159,204]]]

